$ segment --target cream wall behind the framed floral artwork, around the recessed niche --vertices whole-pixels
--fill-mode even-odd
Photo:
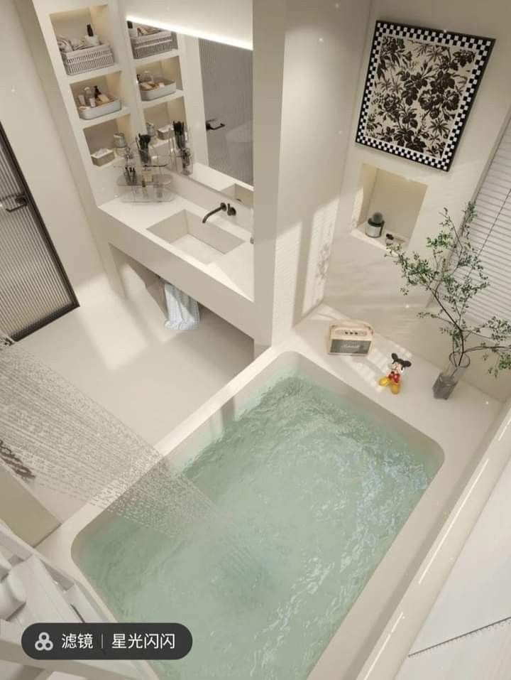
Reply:
[[[370,42],[377,19],[448,28],[497,39],[449,173],[405,161],[354,142]],[[511,63],[511,41],[508,35],[510,25],[511,4],[508,0],[488,0],[484,4],[465,0],[424,0],[421,3],[373,0],[370,12],[370,30],[363,55],[363,71],[358,83],[358,101],[351,131],[348,132],[348,156],[341,184],[341,201],[329,264],[326,301],[343,313],[367,319],[383,335],[392,337],[412,352],[440,365],[448,355],[448,343],[436,331],[433,322],[417,320],[416,313],[422,308],[424,297],[412,295],[403,298],[399,291],[401,282],[397,267],[390,260],[384,259],[381,250],[349,234],[358,178],[362,164],[368,163],[428,185],[410,242],[411,249],[422,249],[426,237],[438,230],[439,212],[444,207],[448,207],[452,215],[461,214],[463,206],[473,197],[511,108],[511,89],[508,86]],[[502,375],[495,382],[495,379],[485,373],[485,365],[477,360],[467,373],[467,379],[498,398],[511,393],[509,376]]]

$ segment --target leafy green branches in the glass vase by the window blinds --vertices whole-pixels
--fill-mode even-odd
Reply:
[[[470,239],[475,217],[476,206],[468,203],[461,225],[456,227],[444,208],[439,233],[427,239],[427,257],[417,252],[409,255],[402,246],[392,244],[387,254],[401,268],[403,295],[419,286],[433,296],[438,311],[419,312],[419,318],[439,320],[440,332],[451,338],[458,365],[464,355],[479,352],[485,361],[494,359],[488,373],[496,377],[500,370],[511,369],[511,323],[495,316],[479,325],[467,320],[471,301],[489,285],[480,248]]]

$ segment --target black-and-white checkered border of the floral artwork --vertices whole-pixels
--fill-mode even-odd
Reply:
[[[413,151],[412,149],[405,149],[397,144],[392,144],[381,139],[376,139],[365,133],[368,111],[370,107],[370,100],[373,95],[373,85],[375,82],[376,67],[378,65],[378,58],[380,55],[380,46],[383,36],[396,36],[397,38],[414,38],[419,41],[427,41],[430,43],[438,43],[441,45],[454,45],[455,47],[475,49],[476,60],[473,64],[471,76],[469,77],[465,92],[461,98],[458,112],[454,119],[449,139],[447,140],[444,154],[441,158],[434,158],[427,156],[420,151]],[[439,31],[434,28],[419,28],[418,26],[407,26],[403,23],[395,23],[392,21],[377,21],[375,26],[375,33],[373,36],[373,45],[370,52],[368,71],[366,75],[366,85],[364,85],[364,94],[361,104],[361,112],[358,118],[358,128],[356,132],[356,140],[359,144],[371,146],[373,149],[393,153],[395,156],[407,158],[409,161],[416,163],[423,163],[431,168],[436,168],[444,172],[449,172],[451,163],[456,153],[458,143],[465,127],[468,114],[470,113],[473,100],[479,87],[481,78],[490,58],[491,51],[495,45],[493,38],[483,38],[482,36],[468,36],[465,33],[452,33],[451,31]]]

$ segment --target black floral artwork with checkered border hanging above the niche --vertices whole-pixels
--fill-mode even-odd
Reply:
[[[494,43],[377,21],[356,141],[449,171]]]

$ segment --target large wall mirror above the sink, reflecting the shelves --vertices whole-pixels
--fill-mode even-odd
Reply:
[[[253,207],[251,45],[134,16],[127,26],[148,132],[178,172]]]

